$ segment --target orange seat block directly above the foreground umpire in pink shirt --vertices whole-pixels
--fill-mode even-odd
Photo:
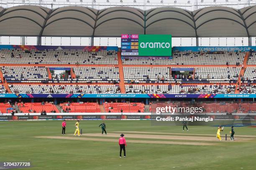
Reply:
[[[113,102],[113,103],[104,103],[103,104],[105,112],[144,112],[145,105],[144,103],[134,102],[134,103],[120,103],[120,102]]]

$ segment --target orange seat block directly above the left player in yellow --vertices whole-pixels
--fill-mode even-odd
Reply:
[[[61,103],[60,107],[64,112],[100,112],[100,105],[98,103],[87,102],[87,103]],[[66,111],[66,109],[70,109]]]

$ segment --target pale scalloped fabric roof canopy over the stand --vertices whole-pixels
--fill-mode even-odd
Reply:
[[[133,7],[0,7],[0,28],[1,36],[120,37],[122,33],[139,33],[256,37],[256,6],[240,10],[215,6],[192,12],[177,7],[146,11]]]

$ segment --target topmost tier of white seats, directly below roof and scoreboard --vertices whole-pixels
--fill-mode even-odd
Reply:
[[[191,52],[174,51],[169,59],[128,59],[124,65],[236,65],[243,63],[246,52]],[[253,52],[251,55],[253,56]],[[54,64],[54,65],[118,65],[115,51],[88,52],[84,50],[0,50],[0,64]],[[252,61],[253,58],[251,59]],[[250,61],[250,60],[249,60]]]

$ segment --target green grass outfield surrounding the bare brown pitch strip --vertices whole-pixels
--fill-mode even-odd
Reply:
[[[101,128],[98,127],[101,122],[81,121],[80,128],[83,133],[101,133]],[[67,121],[67,134],[74,133],[74,123],[72,120]],[[105,123],[108,133],[140,131],[151,132],[152,135],[215,135],[217,131],[216,127],[190,126],[189,131],[183,132],[181,126],[151,126],[151,121],[147,120],[106,120]],[[229,135],[229,131],[230,127],[225,127],[223,134]],[[235,135],[256,135],[256,128],[235,127],[235,131]],[[0,162],[31,162],[33,167],[26,168],[29,170],[256,170],[256,140],[210,141],[216,145],[195,146],[129,143],[129,138],[126,138],[128,158],[119,158],[118,138],[114,143],[35,138],[36,136],[62,136],[61,121],[0,122]],[[94,138],[114,139],[108,135]]]

